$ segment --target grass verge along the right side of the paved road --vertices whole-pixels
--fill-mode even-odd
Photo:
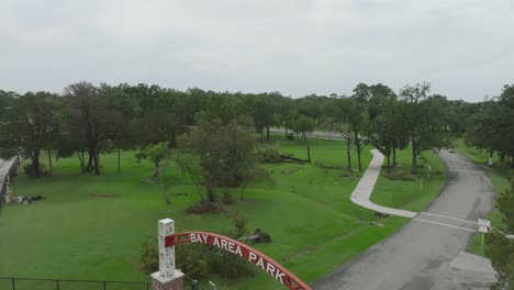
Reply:
[[[455,150],[466,156],[466,158],[482,167],[485,174],[491,178],[494,193],[498,194],[509,188],[510,177],[512,176],[511,169],[506,164],[502,164],[496,155],[493,156],[493,166],[489,167],[487,166],[487,161],[489,159],[489,154],[487,152],[468,147],[461,140],[455,143],[454,148]],[[490,211],[485,215],[485,219],[491,221],[493,227],[502,228],[501,214],[498,210],[494,209]],[[473,235],[473,237],[469,241],[468,252],[480,256],[485,256],[484,249],[481,246],[481,233]]]

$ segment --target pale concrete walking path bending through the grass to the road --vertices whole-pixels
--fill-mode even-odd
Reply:
[[[368,169],[366,169],[366,171],[362,175],[362,178],[360,178],[359,183],[351,193],[351,202],[376,212],[405,216],[410,219],[416,216],[417,212],[391,209],[378,205],[369,200],[369,197],[371,196],[375,185],[377,183],[377,179],[380,175],[380,169],[382,167],[384,158],[383,154],[381,154],[378,149],[372,149],[371,154],[373,155],[373,158],[369,163]]]

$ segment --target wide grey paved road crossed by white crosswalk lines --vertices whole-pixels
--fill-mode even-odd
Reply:
[[[490,179],[459,154],[443,150],[440,157],[449,169],[448,183],[425,212],[471,221],[483,216],[492,209]],[[467,267],[458,258],[472,232],[457,227],[472,230],[474,225],[429,214],[418,219],[456,227],[412,220],[390,238],[316,281],[313,289],[489,289],[494,275]]]

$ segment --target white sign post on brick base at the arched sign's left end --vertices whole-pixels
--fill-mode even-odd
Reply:
[[[183,290],[183,274],[175,268],[175,247],[166,247],[165,237],[175,234],[175,222],[160,220],[159,228],[159,271],[150,275],[154,290]]]

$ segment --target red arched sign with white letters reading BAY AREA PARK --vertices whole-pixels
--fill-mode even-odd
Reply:
[[[185,243],[201,243],[228,250],[260,267],[291,290],[311,290],[311,287],[302,282],[277,261],[233,238],[205,232],[185,232],[165,237],[165,247],[172,247]]]

